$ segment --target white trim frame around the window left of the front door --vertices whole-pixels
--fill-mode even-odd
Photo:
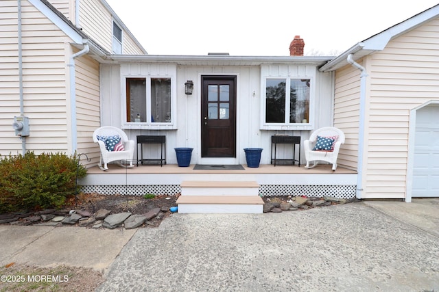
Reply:
[[[145,79],[146,81],[146,116],[151,116],[151,79],[170,79],[171,80],[171,122],[127,122],[127,79]],[[122,129],[150,129],[150,130],[170,130],[177,129],[177,97],[176,97],[176,77],[169,75],[124,75],[121,78],[121,124]]]

